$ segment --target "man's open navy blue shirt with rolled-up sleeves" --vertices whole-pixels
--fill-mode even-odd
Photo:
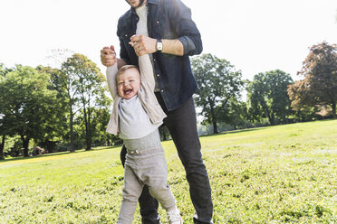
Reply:
[[[184,55],[176,56],[155,52],[154,74],[159,91],[168,110],[181,107],[197,90],[189,56],[202,51],[197,25],[192,21],[190,9],[180,0],[148,0],[148,32],[155,39],[178,39],[184,46]],[[130,46],[130,37],[136,34],[139,16],[130,8],[120,16],[117,35],[120,38],[120,59],[139,65],[138,56]]]

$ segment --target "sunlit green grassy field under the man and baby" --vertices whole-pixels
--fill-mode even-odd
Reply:
[[[337,223],[337,120],[200,140],[215,223]],[[193,223],[185,172],[173,143],[163,146],[178,208]],[[115,223],[122,182],[120,148],[1,162],[0,223]]]

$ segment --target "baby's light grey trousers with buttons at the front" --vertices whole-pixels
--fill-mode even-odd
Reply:
[[[168,165],[160,144],[159,131],[139,139],[125,139],[127,148],[123,199],[117,224],[131,224],[144,185],[165,210],[176,208],[176,200],[168,186]]]

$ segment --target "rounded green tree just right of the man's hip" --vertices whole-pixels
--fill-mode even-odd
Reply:
[[[223,121],[229,100],[239,98],[243,87],[241,71],[209,53],[193,58],[191,65],[198,85],[195,99],[202,109],[199,115],[204,117],[203,124],[212,124],[213,133],[217,134],[217,123]]]

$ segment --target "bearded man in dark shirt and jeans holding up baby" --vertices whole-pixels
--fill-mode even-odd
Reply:
[[[139,65],[138,57],[149,54],[156,80],[155,94],[167,117],[164,124],[183,163],[189,193],[195,207],[194,223],[213,223],[213,203],[208,174],[200,152],[197,117],[192,95],[197,82],[188,56],[202,51],[200,33],[190,9],[180,0],[126,0],[131,6],[118,23],[119,68]],[[101,50],[101,62],[109,67],[115,61],[113,46]],[[140,65],[141,66],[141,65]],[[125,147],[120,158],[125,162]],[[140,196],[142,223],[160,223],[158,201],[144,187]]]

